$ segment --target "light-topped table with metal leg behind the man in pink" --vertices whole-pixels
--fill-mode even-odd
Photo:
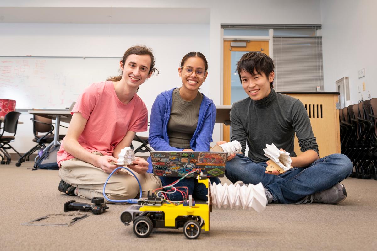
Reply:
[[[59,146],[60,145],[60,142],[59,142],[60,121],[69,123],[70,120],[72,119],[72,114],[70,114],[70,111],[57,111],[57,110],[34,111],[34,110],[31,110],[31,111],[28,111],[28,113],[55,120],[54,141],[52,141],[50,145],[48,145],[48,148],[51,148],[51,146]]]

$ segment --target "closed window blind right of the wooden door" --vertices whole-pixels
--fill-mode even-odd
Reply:
[[[323,88],[322,37],[274,37],[276,91]]]

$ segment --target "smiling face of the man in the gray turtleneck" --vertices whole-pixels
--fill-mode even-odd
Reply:
[[[259,74],[254,71],[251,75],[245,70],[241,70],[240,75],[242,88],[252,100],[261,100],[271,93],[270,82],[274,81],[275,76],[273,71],[268,77],[263,72]]]

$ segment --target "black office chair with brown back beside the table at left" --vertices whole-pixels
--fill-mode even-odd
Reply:
[[[33,110],[37,111],[37,109],[33,109]],[[31,154],[33,154],[35,151],[39,151],[46,148],[46,144],[49,144],[54,140],[54,134],[52,132],[54,132],[55,128],[52,125],[53,124],[52,119],[34,115],[31,120],[33,121],[33,134],[34,134],[33,141],[36,142],[37,145],[35,145],[28,152],[22,155],[18,159],[16,166],[21,166],[22,162],[29,161],[29,157]],[[63,126],[63,127],[66,127],[66,126]],[[40,135],[40,133],[42,134]],[[59,135],[59,140],[63,140],[64,136],[65,135]]]

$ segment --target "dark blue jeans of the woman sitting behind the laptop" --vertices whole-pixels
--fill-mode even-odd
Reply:
[[[167,185],[173,183],[174,181],[179,180],[181,177],[161,176],[159,178],[162,182],[162,186],[167,186]],[[211,182],[211,184],[213,184],[214,182],[216,184],[221,183],[219,178],[210,178],[210,182]],[[179,181],[174,186],[175,187],[188,187],[189,188],[189,194],[191,194],[193,196],[193,198],[200,199],[202,201],[207,201],[208,189],[207,189],[207,187],[204,186],[203,183],[198,183],[198,180],[196,178],[184,178],[183,180]],[[164,190],[167,191],[167,190],[170,190],[170,188],[164,189]],[[181,190],[184,191],[185,189],[181,189]],[[169,198],[170,201],[183,201],[183,196],[180,192],[175,192],[175,193],[166,194],[166,195],[167,195],[167,197]]]

